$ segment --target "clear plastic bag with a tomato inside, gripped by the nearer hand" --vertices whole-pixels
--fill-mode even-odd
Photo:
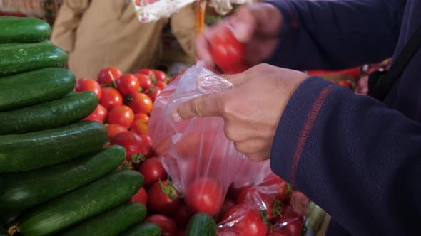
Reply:
[[[194,117],[176,123],[171,112],[182,102],[232,86],[198,63],[171,82],[153,106],[149,122],[153,148],[174,186],[196,212],[216,215],[228,187],[251,161],[225,137],[220,117]]]

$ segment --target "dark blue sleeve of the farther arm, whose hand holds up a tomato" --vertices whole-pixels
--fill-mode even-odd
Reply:
[[[283,15],[268,61],[295,70],[341,70],[392,56],[405,0],[273,0]]]

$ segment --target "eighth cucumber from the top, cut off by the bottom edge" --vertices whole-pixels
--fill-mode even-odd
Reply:
[[[119,235],[146,216],[142,203],[125,203],[71,227],[59,236]]]

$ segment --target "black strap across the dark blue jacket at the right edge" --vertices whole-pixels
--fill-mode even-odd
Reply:
[[[421,25],[418,26],[415,33],[392,63],[389,71],[377,71],[370,74],[368,82],[368,95],[382,101],[387,96],[387,92],[392,88],[397,80],[400,79],[403,71],[414,57],[415,53],[421,48]]]

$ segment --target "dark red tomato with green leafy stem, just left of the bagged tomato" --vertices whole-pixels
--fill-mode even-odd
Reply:
[[[168,181],[156,181],[148,190],[148,207],[156,213],[170,215],[181,204],[180,193]]]

